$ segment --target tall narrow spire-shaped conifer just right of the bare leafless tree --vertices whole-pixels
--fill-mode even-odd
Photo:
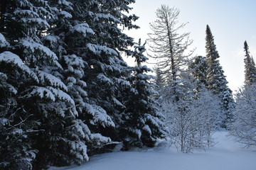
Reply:
[[[214,44],[213,35],[210,27],[206,27],[206,58],[208,63],[207,70],[207,89],[219,96],[223,111],[222,127],[226,128],[227,123],[232,119],[234,100],[232,91],[228,88],[228,81],[225,79],[223,68],[220,66],[218,51]]]

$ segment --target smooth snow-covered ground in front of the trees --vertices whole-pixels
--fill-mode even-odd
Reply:
[[[255,170],[256,149],[241,149],[227,134],[216,132],[214,137],[218,143],[206,152],[183,154],[175,148],[154,147],[95,155],[81,166],[52,167],[51,170]]]

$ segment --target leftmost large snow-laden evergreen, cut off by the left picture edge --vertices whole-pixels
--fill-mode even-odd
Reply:
[[[1,92],[6,94],[2,100],[4,105],[9,105],[10,101],[15,104],[9,106],[8,110],[1,111],[1,116],[6,120],[4,125],[11,126],[7,130],[16,132],[11,133],[13,137],[8,133],[3,137],[4,142],[9,142],[9,139],[12,142],[7,147],[3,145],[1,149],[4,153],[1,156],[12,155],[12,159],[6,156],[6,162],[8,166],[15,167],[14,169],[31,169],[31,162],[38,152],[35,145],[40,139],[37,136],[46,134],[46,129],[41,125],[48,115],[59,114],[53,111],[54,106],[51,103],[47,107],[46,103],[56,101],[70,106],[73,103],[65,96],[63,82],[50,74],[52,68],[61,69],[56,55],[44,47],[40,40],[43,30],[49,27],[46,18],[54,18],[47,1],[5,2],[1,6],[1,23],[4,26],[1,28],[1,37],[5,37],[6,43],[5,47],[1,45],[0,61],[1,72],[6,77],[8,86],[12,88]],[[48,110],[44,120],[41,119],[42,109]],[[48,120],[49,123],[50,118]],[[2,134],[6,135],[6,132]],[[31,152],[29,148],[34,149]]]

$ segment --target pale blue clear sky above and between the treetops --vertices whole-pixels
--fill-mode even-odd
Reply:
[[[235,92],[244,81],[243,43],[247,40],[251,55],[256,61],[256,1],[255,0],[137,0],[131,13],[139,16],[135,22],[139,30],[129,35],[146,40],[149,23],[156,20],[155,12],[161,4],[180,9],[180,23],[187,23],[182,32],[190,32],[196,47],[194,55],[206,56],[206,25],[210,26],[220,55],[220,64]]]

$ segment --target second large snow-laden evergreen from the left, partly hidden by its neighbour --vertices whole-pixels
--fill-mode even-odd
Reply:
[[[70,137],[65,141],[65,145],[69,146],[65,162],[77,164],[88,160],[87,154],[93,149],[110,142],[110,138],[100,134],[98,127],[114,127],[106,111],[87,97],[85,69],[88,65],[85,57],[87,44],[92,41],[91,35],[94,34],[85,22],[89,9],[82,11],[90,8],[88,5],[84,1],[50,1],[57,18],[49,21],[53,27],[48,30],[49,35],[43,38],[43,42],[58,55],[63,67],[60,78],[67,85],[68,94],[78,111],[75,120],[69,122],[70,128],[65,131]],[[84,148],[83,152],[81,148]]]

